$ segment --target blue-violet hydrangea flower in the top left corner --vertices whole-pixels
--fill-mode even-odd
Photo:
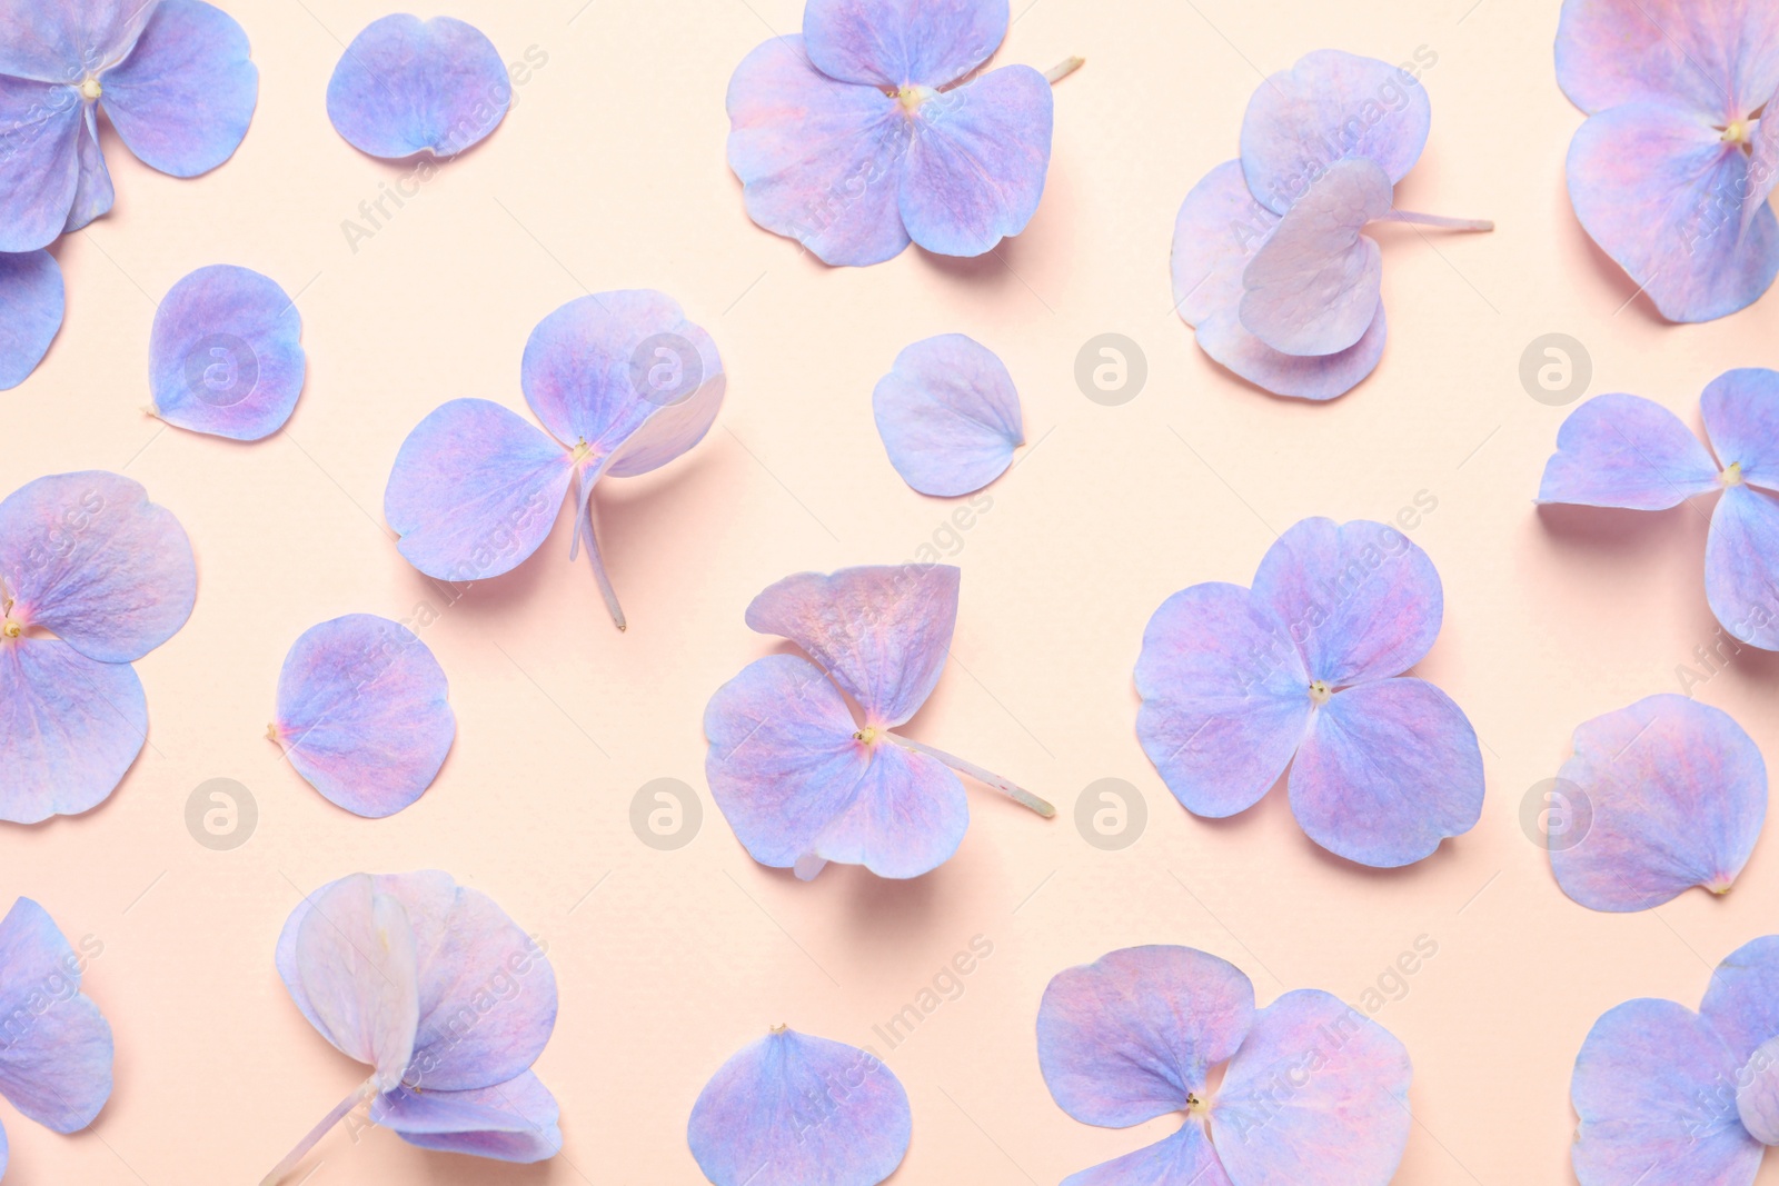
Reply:
[[[260,71],[203,0],[0,0],[0,251],[112,208],[98,112],[149,169],[194,178],[247,135]]]

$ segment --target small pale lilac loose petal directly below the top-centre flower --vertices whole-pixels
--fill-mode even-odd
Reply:
[[[922,494],[980,491],[1025,445],[1019,393],[993,350],[964,334],[916,341],[872,393],[890,464]]]

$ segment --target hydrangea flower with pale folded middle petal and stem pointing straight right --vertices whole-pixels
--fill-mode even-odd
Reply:
[[[1393,206],[1430,119],[1407,64],[1316,50],[1267,78],[1242,119],[1240,160],[1192,187],[1174,224],[1174,306],[1199,349],[1304,400],[1370,375],[1384,354],[1384,270],[1364,228],[1494,228]]]

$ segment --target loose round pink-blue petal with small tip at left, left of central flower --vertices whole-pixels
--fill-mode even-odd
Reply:
[[[327,802],[377,820],[432,786],[457,718],[445,670],[415,631],[349,613],[311,626],[285,656],[278,736]]]

